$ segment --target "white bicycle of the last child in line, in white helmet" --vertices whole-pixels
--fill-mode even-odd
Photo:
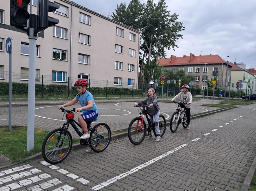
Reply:
[[[173,103],[177,104],[176,110],[171,116],[171,121],[170,121],[170,130],[171,132],[175,133],[178,129],[178,125],[182,123],[182,126],[184,128],[187,128],[187,116],[186,116],[186,111],[182,108],[184,108],[184,105],[187,103],[181,103],[181,102],[176,102],[174,101]]]

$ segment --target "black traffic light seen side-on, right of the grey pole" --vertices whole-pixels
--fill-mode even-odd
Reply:
[[[49,2],[49,0],[39,0],[38,1],[38,29],[45,30],[48,27],[53,27],[58,24],[59,19],[48,16],[49,12],[54,12],[56,9],[60,8],[57,3]]]

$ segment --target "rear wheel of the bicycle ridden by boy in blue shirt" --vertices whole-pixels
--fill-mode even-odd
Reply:
[[[95,132],[93,132],[95,131]],[[106,123],[99,123],[93,127],[93,131],[90,132],[90,148],[96,152],[100,153],[105,150],[111,139],[111,130]],[[101,138],[103,136],[103,138]]]

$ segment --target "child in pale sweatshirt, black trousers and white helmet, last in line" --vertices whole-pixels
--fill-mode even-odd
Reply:
[[[184,84],[182,86],[182,91],[180,93],[178,93],[174,98],[171,99],[171,102],[173,102],[174,100],[180,99],[180,101],[182,103],[187,103],[184,108],[184,110],[186,111],[186,116],[187,116],[187,130],[189,130],[190,128],[190,104],[192,103],[192,94],[188,91],[189,86],[187,84]]]

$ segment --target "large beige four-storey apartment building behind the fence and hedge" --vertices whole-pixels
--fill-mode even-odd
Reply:
[[[90,80],[91,86],[136,88],[139,63],[138,30],[69,0],[55,0],[60,8],[49,16],[59,24],[38,33],[36,40],[36,81],[71,85],[77,79]],[[37,14],[38,0],[31,0]],[[29,12],[28,6],[28,12]],[[10,1],[0,6],[0,82],[8,82],[9,54],[5,41],[12,38],[12,76],[28,81],[29,39],[10,24]]]

